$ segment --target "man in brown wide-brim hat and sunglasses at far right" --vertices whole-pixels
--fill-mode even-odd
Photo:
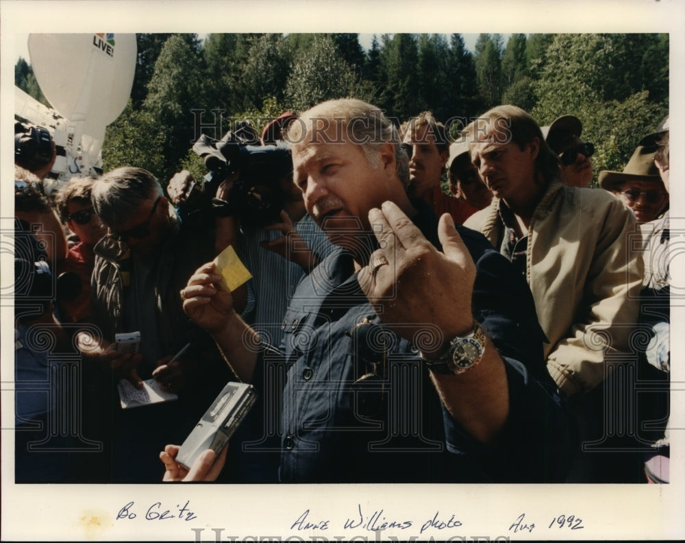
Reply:
[[[669,205],[669,193],[654,164],[657,150],[656,144],[645,137],[623,171],[599,172],[599,186],[631,208],[639,224],[653,221]]]

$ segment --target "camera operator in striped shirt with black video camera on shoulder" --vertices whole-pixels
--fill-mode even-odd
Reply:
[[[212,200],[215,252],[219,254],[228,245],[234,247],[252,274],[254,298],[249,304],[236,300],[236,308],[263,337],[277,345],[284,335],[283,316],[297,283],[332,251],[333,245],[307,214],[302,193],[292,182],[290,149],[283,143],[247,145],[247,140],[236,138],[236,133],[229,132],[218,142],[234,142],[223,151],[229,155],[227,167],[216,167],[216,160],[206,159],[208,167],[213,164],[216,171],[210,172],[212,181],[206,181],[204,189],[208,190],[210,182],[218,185]],[[212,150],[208,145],[200,147],[205,152]],[[195,150],[200,152],[198,144]],[[195,180],[184,170],[171,178],[167,191],[173,204],[184,208],[192,206],[193,187],[197,187]],[[201,206],[209,206],[208,195],[195,202],[198,200],[203,202]]]

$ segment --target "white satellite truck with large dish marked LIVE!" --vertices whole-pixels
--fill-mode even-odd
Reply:
[[[14,87],[15,161],[45,160],[48,151],[51,160],[54,141],[57,158],[43,180],[45,193],[51,193],[73,176],[102,173],[105,128],[131,95],[136,35],[29,34],[28,49],[51,107]]]

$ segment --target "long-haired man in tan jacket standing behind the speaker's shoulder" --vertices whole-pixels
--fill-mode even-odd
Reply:
[[[495,197],[465,226],[482,232],[525,275],[549,340],[547,369],[576,396],[585,439],[601,440],[610,415],[597,385],[611,365],[633,357],[643,278],[641,254],[632,249],[639,244],[635,219],[603,191],[564,186],[558,159],[520,108],[493,108],[467,130],[471,160]],[[593,389],[592,399],[584,398]]]

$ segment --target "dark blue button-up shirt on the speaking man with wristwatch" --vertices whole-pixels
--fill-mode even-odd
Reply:
[[[414,203],[414,202],[412,202]],[[421,203],[414,223],[438,245],[437,219]],[[479,233],[459,227],[477,268],[475,318],[506,364],[510,417],[484,445],[444,409],[416,347],[385,334],[386,404],[365,418],[350,391],[352,328],[382,326],[339,248],[299,285],[283,322],[279,355],[263,357],[253,383],[269,390],[264,407],[280,417],[279,478],[297,483],[562,481],[575,444],[564,402],[543,360],[545,337],[525,280]],[[434,285],[436,296],[445,285]],[[274,391],[280,389],[282,398]],[[280,411],[279,414],[278,411]]]

